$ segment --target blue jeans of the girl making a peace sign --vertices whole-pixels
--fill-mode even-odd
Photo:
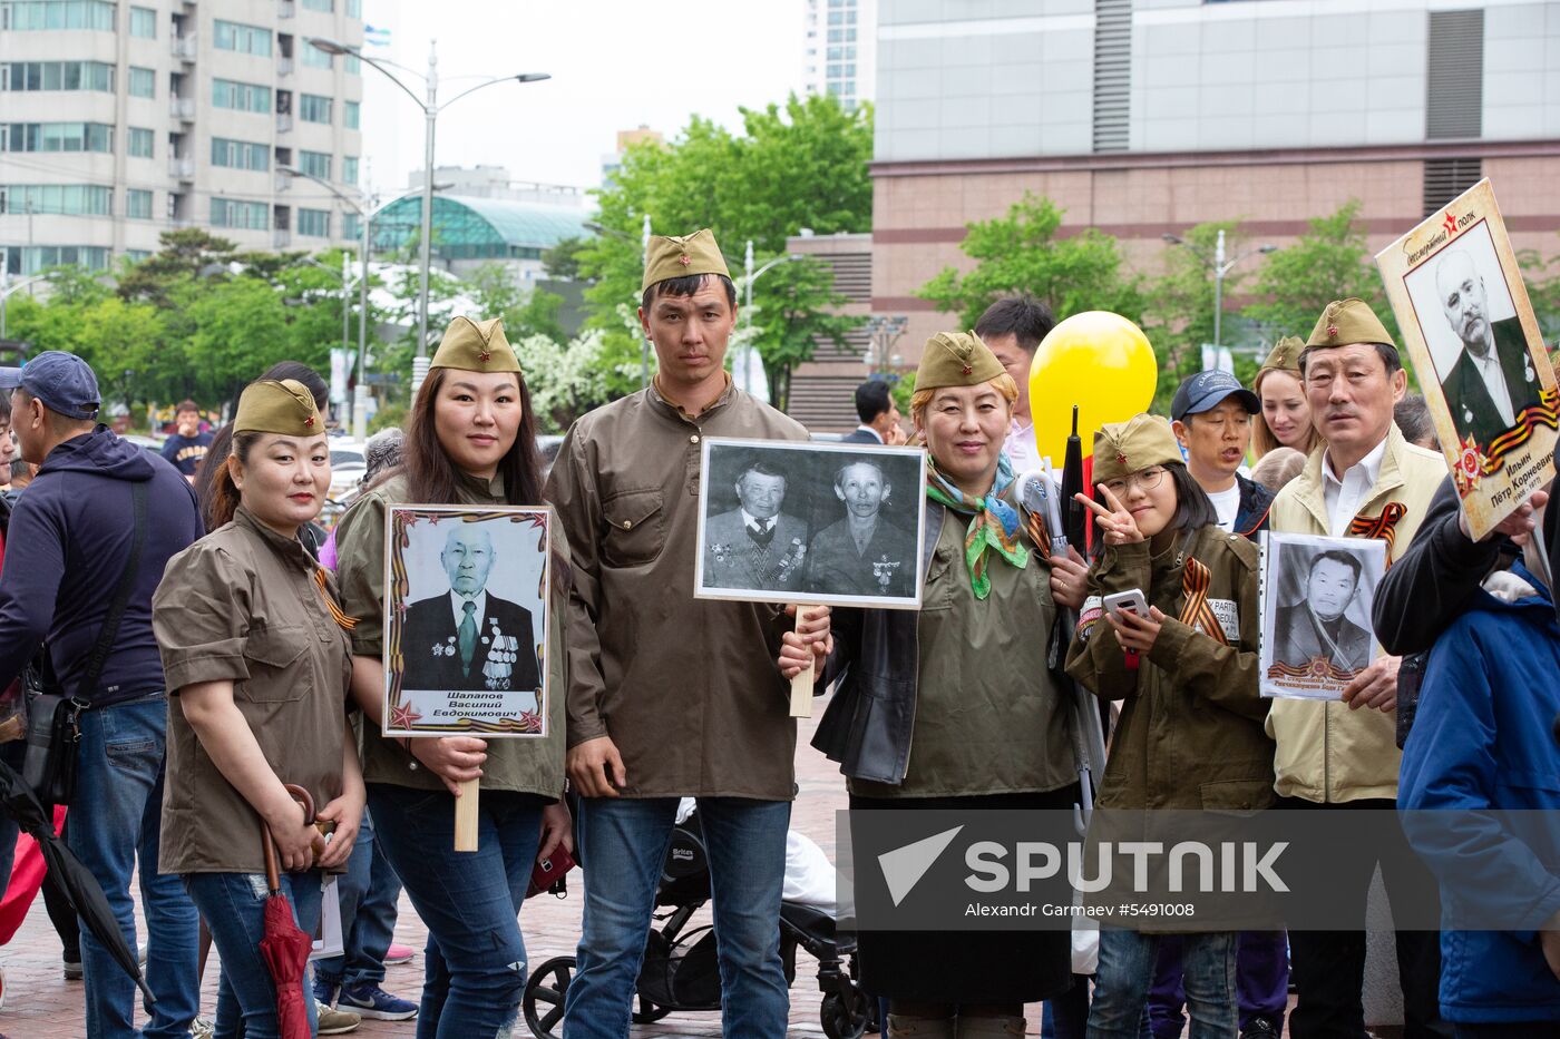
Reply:
[[[1207,931],[1179,938],[1192,1039],[1229,1039],[1239,1031],[1236,933]],[[1137,1039],[1143,1034],[1143,1009],[1158,956],[1158,934],[1100,930],[1100,973],[1089,1006],[1089,1039]]]

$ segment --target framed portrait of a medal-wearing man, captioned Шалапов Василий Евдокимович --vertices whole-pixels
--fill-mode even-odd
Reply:
[[[385,736],[548,735],[551,509],[392,505]]]

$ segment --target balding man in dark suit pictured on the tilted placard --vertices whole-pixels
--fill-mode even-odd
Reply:
[[[1435,292],[1446,323],[1462,342],[1457,360],[1441,379],[1452,424],[1459,438],[1473,434],[1480,448],[1488,448],[1516,424],[1524,407],[1538,401],[1538,373],[1527,354],[1523,323],[1515,315],[1490,318],[1484,275],[1463,250],[1451,250],[1437,261]]]

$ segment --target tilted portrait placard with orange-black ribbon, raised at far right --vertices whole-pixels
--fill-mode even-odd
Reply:
[[[1554,477],[1560,390],[1490,181],[1376,254],[1468,527]]]

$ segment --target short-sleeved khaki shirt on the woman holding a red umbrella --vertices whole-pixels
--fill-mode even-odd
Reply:
[[[162,872],[265,869],[261,816],[184,719],[178,691],[187,685],[232,682],[232,702],[278,778],[307,789],[317,810],[342,794],[353,665],[318,569],[296,538],[242,507],[168,560],[151,601],[170,693]]]

